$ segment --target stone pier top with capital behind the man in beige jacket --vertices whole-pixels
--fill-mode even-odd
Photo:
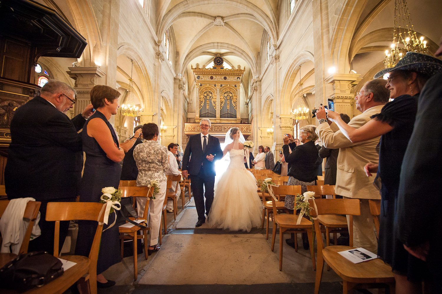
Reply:
[[[353,73],[335,73],[328,76],[325,82],[333,86],[331,99],[335,102],[335,111],[346,113],[350,118],[354,116],[354,86],[356,86],[362,78],[359,74]]]

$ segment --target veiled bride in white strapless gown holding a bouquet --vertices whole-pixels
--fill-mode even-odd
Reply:
[[[263,203],[256,191],[256,179],[244,166],[244,136],[238,128],[226,134],[223,155],[229,153],[230,164],[215,183],[215,195],[208,216],[212,228],[244,230],[261,224]]]

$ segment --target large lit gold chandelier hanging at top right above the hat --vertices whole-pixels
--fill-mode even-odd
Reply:
[[[400,31],[401,27],[406,31],[404,34]],[[399,45],[403,45],[404,48]],[[405,0],[395,0],[393,42],[390,51],[385,50],[385,68],[395,66],[407,52],[428,54],[427,41],[424,41],[423,37],[417,37]]]

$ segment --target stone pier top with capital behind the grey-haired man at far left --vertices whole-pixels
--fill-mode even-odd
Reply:
[[[74,116],[80,114],[91,103],[91,89],[98,84],[97,80],[104,76],[98,67],[69,67],[66,72],[75,80],[74,89],[77,91],[74,105]]]

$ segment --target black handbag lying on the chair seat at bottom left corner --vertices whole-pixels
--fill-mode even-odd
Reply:
[[[48,252],[22,254],[0,268],[0,285],[19,292],[41,287],[63,275],[62,265],[61,260]]]

